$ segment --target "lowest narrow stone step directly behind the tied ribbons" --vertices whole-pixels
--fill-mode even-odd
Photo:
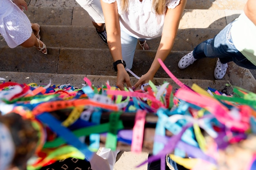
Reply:
[[[37,85],[49,84],[52,85],[64,85],[70,84],[74,87],[81,88],[86,84],[83,78],[87,77],[92,84],[96,87],[102,87],[106,85],[108,81],[111,86],[116,85],[116,76],[98,76],[98,75],[86,75],[86,74],[48,74],[48,73],[27,73],[27,72],[0,72],[0,78],[5,78],[5,81],[11,81],[16,83],[36,83]],[[137,82],[135,77],[130,77],[132,85]],[[233,88],[230,86],[229,81],[211,81],[211,80],[195,80],[195,79],[179,79],[185,85],[191,87],[193,84],[199,85],[203,89],[211,87],[220,92],[226,92],[232,94]],[[3,81],[0,81],[3,82]],[[177,85],[171,78],[154,78],[153,83],[155,85],[162,85],[164,82],[168,82],[173,86],[173,92],[175,89],[179,89],[180,86]],[[227,86],[226,84],[229,84]]]

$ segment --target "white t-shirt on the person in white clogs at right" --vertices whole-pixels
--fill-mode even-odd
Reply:
[[[231,37],[234,46],[249,61],[256,65],[256,26],[249,18],[242,13],[235,22],[232,23]]]

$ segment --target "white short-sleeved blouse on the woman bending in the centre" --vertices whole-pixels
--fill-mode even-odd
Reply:
[[[116,0],[103,0],[113,3]],[[180,0],[167,0],[166,7],[174,9]],[[152,0],[129,0],[128,10],[121,11],[121,1],[117,0],[120,27],[127,34],[136,38],[155,38],[162,35],[164,17],[157,15],[152,9]]]

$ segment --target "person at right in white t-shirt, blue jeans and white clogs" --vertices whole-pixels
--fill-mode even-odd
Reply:
[[[256,1],[248,0],[243,13],[229,23],[213,39],[198,44],[193,51],[182,57],[178,63],[180,69],[187,68],[197,59],[218,58],[214,76],[221,80],[228,68],[228,62],[234,61],[243,68],[256,70]]]

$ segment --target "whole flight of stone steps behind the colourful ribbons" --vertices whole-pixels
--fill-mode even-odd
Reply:
[[[226,83],[256,92],[256,80],[250,70],[229,63],[222,81],[213,76],[216,59],[201,59],[181,70],[177,63],[182,56],[200,42],[212,38],[242,12],[246,0],[188,0],[180,22],[177,38],[165,65],[186,85],[193,83],[202,88],[226,90]],[[11,49],[0,37],[0,77],[18,83],[49,83],[81,86],[87,76],[94,85],[115,85],[117,73],[112,68],[108,46],[96,33],[88,13],[75,0],[27,0],[25,11],[31,22],[41,26],[41,39],[48,54],[36,48]],[[141,76],[152,63],[160,38],[149,40],[150,50],[137,46],[132,71]],[[155,75],[154,83],[170,82],[179,88],[162,68]],[[136,78],[131,77],[132,82]],[[246,83],[244,83],[246,82]],[[229,92],[232,88],[229,89]]]

